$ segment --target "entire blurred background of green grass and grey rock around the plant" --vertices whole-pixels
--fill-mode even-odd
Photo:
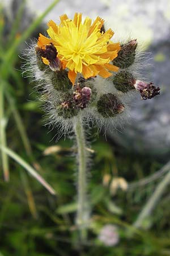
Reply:
[[[0,255],[170,255],[170,1],[61,0],[48,12],[52,3],[0,1]],[[91,130],[93,210],[82,246],[74,225],[73,141],[56,143],[57,127],[49,131],[43,125],[35,84],[21,70],[22,53],[39,32],[45,33],[46,22],[75,12],[104,18],[114,40],[137,39],[147,58],[147,65],[139,67],[141,76],[161,88],[152,100],[137,96],[128,123],[109,130],[107,140]],[[56,196],[31,171],[44,177]],[[136,220],[139,230],[134,230]]]

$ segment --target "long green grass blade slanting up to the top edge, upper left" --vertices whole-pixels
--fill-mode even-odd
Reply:
[[[6,52],[5,59],[1,65],[1,75],[3,76],[3,78],[6,78],[8,76],[8,66],[14,64],[13,56],[15,55],[15,51],[18,48],[19,44],[24,42],[27,38],[29,38],[29,36],[35,30],[35,28],[39,26],[39,24],[42,22],[45,16],[53,9],[54,6],[57,5],[58,2],[59,0],[54,0],[51,3],[51,5],[49,5],[49,7],[44,11],[44,13],[37,17],[19,38],[15,38],[11,47]]]

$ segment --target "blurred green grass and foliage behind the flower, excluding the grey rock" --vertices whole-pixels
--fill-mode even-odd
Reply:
[[[24,41],[29,43],[45,30],[42,20],[57,2],[38,18],[28,12],[25,1],[14,0],[10,16],[1,3],[0,256],[170,255],[168,189],[142,229],[132,225],[169,164],[164,169],[166,159],[125,150],[106,141],[102,133],[96,137],[95,129],[89,174],[91,225],[88,241],[78,242],[74,140],[61,138],[56,144],[57,128],[49,131],[43,126],[35,85],[22,77],[25,60],[19,57],[27,47]],[[39,183],[40,177],[33,179],[30,170],[43,177],[56,195],[42,186],[45,181]],[[117,226],[116,245],[99,240],[107,224]]]

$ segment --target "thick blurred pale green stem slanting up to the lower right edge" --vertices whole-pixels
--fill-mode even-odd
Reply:
[[[137,220],[134,223],[134,226],[136,228],[141,228],[143,226],[143,221],[145,221],[146,218],[151,215],[152,210],[158,204],[160,197],[163,195],[169,183],[170,183],[170,171],[168,172],[167,175],[164,176],[163,180],[160,181],[154,193],[152,194],[150,199],[147,201],[146,205],[143,207],[142,212],[139,214]]]

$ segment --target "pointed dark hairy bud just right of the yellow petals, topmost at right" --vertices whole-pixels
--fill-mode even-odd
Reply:
[[[135,60],[135,50],[137,48],[137,40],[131,40],[129,43],[122,44],[118,56],[113,60],[113,65],[119,68],[128,68]]]

